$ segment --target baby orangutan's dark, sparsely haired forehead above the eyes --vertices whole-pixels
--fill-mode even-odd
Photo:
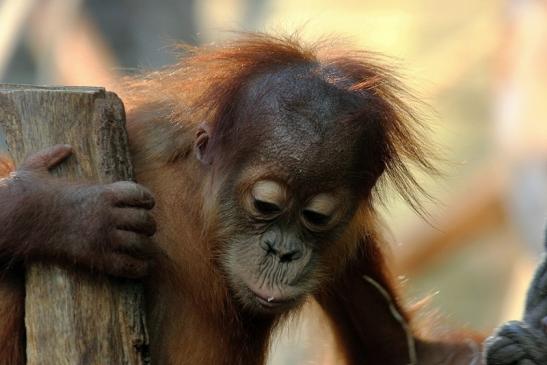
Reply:
[[[243,89],[240,128],[252,136],[252,154],[277,161],[303,184],[354,174],[364,125],[344,121],[362,110],[363,96],[345,90],[342,81],[337,72],[323,75],[310,65],[251,80]]]

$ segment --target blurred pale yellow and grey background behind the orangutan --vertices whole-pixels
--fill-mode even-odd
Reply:
[[[405,301],[434,333],[519,318],[547,217],[546,1],[0,0],[0,82],[108,88],[173,62],[176,41],[227,30],[342,36],[389,56],[428,105],[445,172],[420,176],[427,220],[396,196],[382,209]],[[307,309],[272,365],[337,363]]]

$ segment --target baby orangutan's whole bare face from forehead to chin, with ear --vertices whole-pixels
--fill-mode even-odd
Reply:
[[[218,192],[221,265],[243,306],[259,312],[284,311],[313,292],[325,247],[373,175],[359,156],[368,127],[349,133],[343,121],[354,98],[306,71],[254,81],[238,115],[242,132],[221,142],[222,160],[204,153],[207,131],[198,134],[198,158],[220,166],[219,175],[231,171]]]

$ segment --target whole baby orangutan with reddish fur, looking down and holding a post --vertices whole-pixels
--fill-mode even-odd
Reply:
[[[347,364],[479,363],[482,339],[415,338],[383,262],[379,179],[416,205],[407,163],[432,170],[389,69],[245,35],[118,92],[141,185],[53,178],[67,146],[2,180],[1,364],[23,361],[32,260],[143,277],[154,364],[264,364],[272,330],[310,297]]]

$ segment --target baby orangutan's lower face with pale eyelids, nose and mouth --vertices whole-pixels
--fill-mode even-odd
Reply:
[[[230,237],[221,264],[244,306],[280,312],[316,288],[321,255],[335,244],[353,207],[346,204],[351,193],[341,187],[303,195],[290,179],[280,178],[283,174],[266,171],[267,177],[259,177],[249,189],[236,184],[237,194],[229,189],[221,194],[230,207],[222,213],[226,219],[220,219],[228,223],[221,230]],[[281,200],[275,199],[279,188],[284,191]]]

